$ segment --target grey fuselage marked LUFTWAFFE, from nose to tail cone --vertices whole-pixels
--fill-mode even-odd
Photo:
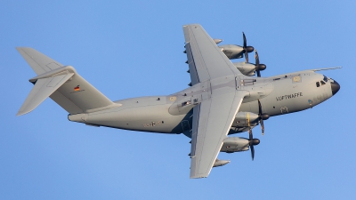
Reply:
[[[313,71],[302,71],[265,78],[236,77],[235,83],[231,84],[236,84],[237,90],[250,92],[242,101],[239,112],[258,114],[257,100],[260,100],[263,113],[279,116],[312,108],[328,100],[333,96],[331,84],[334,82],[331,78]],[[184,132],[190,137],[192,108],[198,105],[200,99],[204,100],[205,95],[209,95],[206,92],[209,87],[207,84],[195,84],[167,96],[117,100],[116,107],[69,115],[69,120],[141,132]],[[235,121],[229,134],[248,130],[247,125],[241,126],[238,119]],[[251,122],[250,126],[255,127],[257,124],[257,121]]]

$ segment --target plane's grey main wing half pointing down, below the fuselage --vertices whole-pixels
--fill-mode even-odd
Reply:
[[[211,99],[202,101],[194,108],[190,179],[205,178],[209,175],[247,93],[232,88],[231,92],[222,94],[215,91]]]

